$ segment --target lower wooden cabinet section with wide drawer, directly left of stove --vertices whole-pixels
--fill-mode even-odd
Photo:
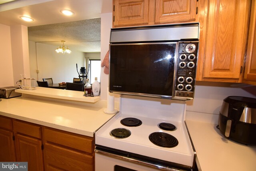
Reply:
[[[93,138],[44,127],[46,171],[93,171]]]

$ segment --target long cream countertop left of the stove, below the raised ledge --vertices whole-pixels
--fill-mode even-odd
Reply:
[[[0,101],[0,115],[90,137],[114,116],[103,111],[97,106],[26,96]]]

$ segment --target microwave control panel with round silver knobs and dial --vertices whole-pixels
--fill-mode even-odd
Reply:
[[[194,97],[199,42],[179,42],[176,61],[175,97]]]

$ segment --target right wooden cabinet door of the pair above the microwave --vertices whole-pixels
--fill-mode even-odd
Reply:
[[[196,20],[196,0],[156,0],[156,24],[193,20]]]

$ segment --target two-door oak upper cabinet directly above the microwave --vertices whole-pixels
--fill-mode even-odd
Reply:
[[[197,0],[113,0],[113,27],[196,22]]]

